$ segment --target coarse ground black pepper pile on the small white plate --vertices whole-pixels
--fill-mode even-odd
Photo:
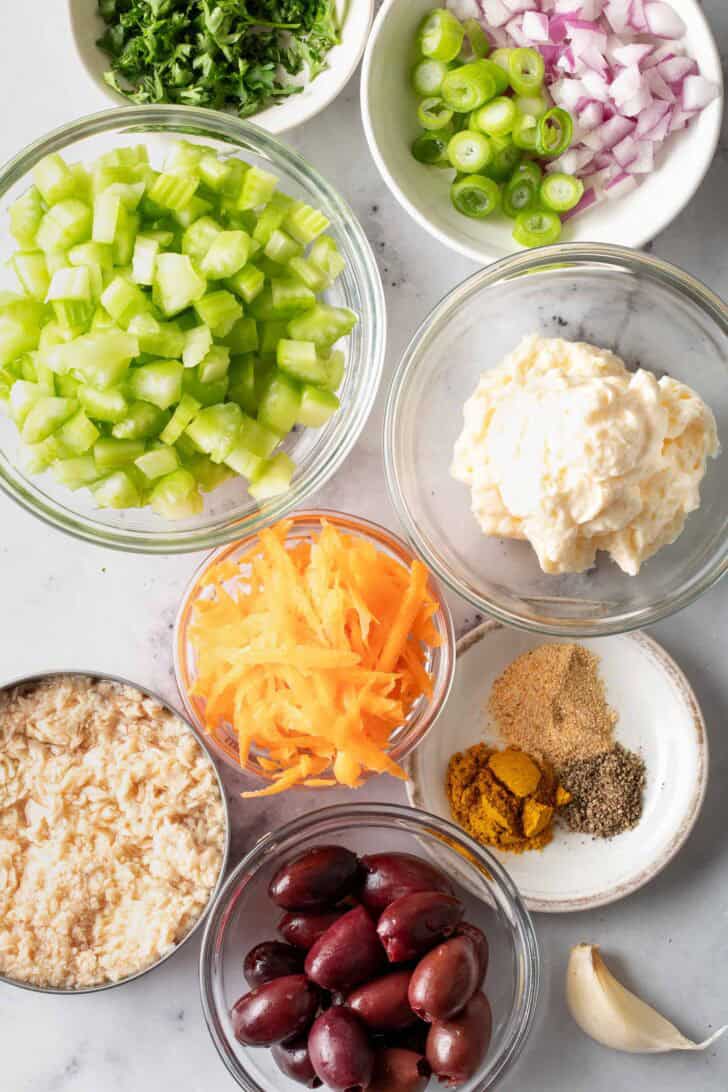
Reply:
[[[571,830],[613,838],[642,817],[645,763],[621,744],[604,755],[570,762],[561,782],[572,796],[561,812]]]

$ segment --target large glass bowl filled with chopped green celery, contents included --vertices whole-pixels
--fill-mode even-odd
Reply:
[[[76,537],[219,545],[363,428],[385,306],[354,213],[262,130],[128,107],[0,170],[0,487]]]

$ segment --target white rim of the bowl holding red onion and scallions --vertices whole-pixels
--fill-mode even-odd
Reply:
[[[443,246],[449,247],[456,253],[462,254],[464,258],[469,258],[472,261],[478,262],[479,264],[503,261],[504,258],[511,257],[511,254],[503,256],[500,251],[494,251],[488,241],[484,239],[482,244],[468,244],[454,239],[452,235],[444,228],[439,227],[433,224],[428,216],[426,216],[417,205],[410,201],[403,188],[399,186],[393,173],[390,170],[386,159],[382,155],[379,142],[374,133],[374,121],[373,121],[373,110],[371,109],[371,69],[373,64],[374,50],[378,47],[380,37],[383,35],[386,22],[392,13],[392,9],[399,3],[399,0],[384,0],[382,7],[380,8],[377,17],[373,22],[371,34],[369,36],[369,41],[367,43],[367,48],[365,50],[363,63],[361,67],[361,85],[360,85],[360,104],[361,104],[361,120],[363,123],[365,135],[367,138],[367,144],[369,145],[369,151],[372,155],[377,168],[382,176],[384,182],[386,183],[390,192],[399,203],[399,205],[407,212],[413,219],[421,227],[423,230],[428,232],[434,239]],[[708,43],[708,48],[706,49],[706,57],[709,60],[712,75],[711,79],[718,83],[719,95],[715,100],[715,105],[711,104],[712,109],[708,116],[709,128],[703,122],[705,128],[705,134],[701,143],[701,155],[697,157],[697,170],[694,170],[690,185],[685,186],[680,192],[680,197],[672,203],[663,203],[660,205],[660,213],[656,215],[654,222],[651,223],[648,227],[645,228],[642,222],[635,224],[635,230],[632,233],[629,244],[623,244],[624,246],[630,246],[634,248],[644,247],[646,242],[654,239],[660,232],[664,232],[673,219],[676,219],[680,213],[685,209],[689,202],[694,197],[697,188],[705,178],[713,158],[715,156],[718,142],[720,140],[720,128],[723,123],[723,112],[724,112],[724,80],[723,80],[723,66],[720,62],[720,52],[718,50],[717,43],[711,25],[705,17],[704,12],[699,7],[696,0],[683,0],[683,3],[690,5],[691,12],[688,16],[689,20],[700,26],[701,31],[705,34],[706,40]],[[700,119],[699,119],[700,120]],[[518,247],[516,244],[513,246],[513,253],[518,252]]]

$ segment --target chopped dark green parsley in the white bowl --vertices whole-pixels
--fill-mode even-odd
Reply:
[[[242,118],[299,92],[339,40],[334,0],[98,0],[98,11],[116,91]]]

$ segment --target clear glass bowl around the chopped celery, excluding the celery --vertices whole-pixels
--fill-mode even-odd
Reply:
[[[281,188],[321,209],[329,232],[346,259],[346,270],[326,294],[329,302],[349,307],[359,322],[344,344],[346,375],[341,410],[321,429],[299,429],[284,443],[297,471],[288,492],[263,506],[249,496],[241,479],[205,494],[204,512],[170,522],[150,509],[96,509],[86,489],[71,492],[52,475],[22,470],[21,443],[14,424],[0,417],[0,488],[47,523],[103,546],[150,554],[206,549],[230,542],[277,520],[303,500],[341,466],[373,405],[384,360],[386,312],[382,283],[371,247],[346,202],[303,159],[250,122],[214,110],[147,106],[105,110],[63,126],[26,147],[0,169],[0,288],[15,287],[4,268],[17,245],[10,235],[8,210],[27,189],[33,166],[59,152],[69,161],[88,161],[124,144],[144,142],[153,163],[175,140],[200,141],[218,153],[241,155],[281,178]]]

